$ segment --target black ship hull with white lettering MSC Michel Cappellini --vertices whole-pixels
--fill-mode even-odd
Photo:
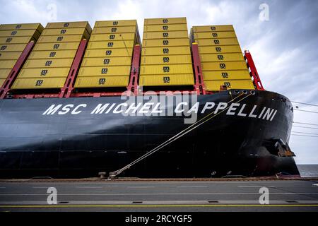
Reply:
[[[289,141],[290,101],[277,93],[245,92],[199,95],[182,104],[160,100],[146,107],[143,100],[138,115],[134,108],[128,111],[131,115],[120,112],[131,106],[117,107],[126,102],[121,97],[0,100],[0,177],[96,177],[187,129],[195,124],[191,118],[204,123],[121,176],[299,175],[293,157],[278,155],[276,147],[278,141]],[[184,107],[192,114],[185,115]],[[167,113],[170,109],[172,114]]]

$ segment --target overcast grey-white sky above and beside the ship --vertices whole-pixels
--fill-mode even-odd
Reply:
[[[187,17],[188,28],[232,24],[242,49],[251,52],[266,90],[318,105],[318,1],[0,0],[0,6],[0,23],[45,26],[88,20],[93,28],[95,20],[137,19],[141,36],[144,18]],[[318,112],[318,107],[298,106]],[[298,111],[294,121],[318,124],[318,114]],[[290,138],[298,164],[318,164],[318,137],[310,137],[318,136],[318,126],[310,127],[316,129],[293,127],[307,135]]]

